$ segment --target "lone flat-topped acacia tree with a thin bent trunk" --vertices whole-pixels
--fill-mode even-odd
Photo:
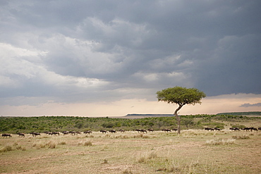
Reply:
[[[178,111],[186,104],[201,104],[201,99],[206,97],[206,94],[195,88],[186,87],[170,87],[158,91],[157,93],[158,101],[165,101],[168,104],[178,104],[178,108],[174,112],[176,120],[178,122],[178,134],[181,133],[181,117],[178,116]]]

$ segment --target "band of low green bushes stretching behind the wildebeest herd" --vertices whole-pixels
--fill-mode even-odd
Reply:
[[[189,115],[181,116],[182,129],[224,128],[223,121],[260,120],[260,117],[233,116],[233,115]],[[78,116],[37,116],[37,117],[0,117],[0,132],[44,132],[64,130],[93,130],[138,128],[162,130],[177,128],[174,117],[148,117],[148,118],[90,118]]]

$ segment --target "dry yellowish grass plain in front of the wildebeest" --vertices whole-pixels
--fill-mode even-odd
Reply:
[[[253,123],[254,124],[254,123]],[[261,173],[261,132],[0,138],[0,173]]]

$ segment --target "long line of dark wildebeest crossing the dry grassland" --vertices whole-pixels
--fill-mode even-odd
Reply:
[[[171,131],[176,131],[177,129],[162,129],[162,131],[164,132],[171,132]],[[207,131],[221,131],[220,128],[205,128],[204,130],[207,130]],[[261,130],[261,128],[253,128],[253,127],[250,127],[250,128],[229,128],[229,130],[231,131],[241,131],[241,130],[245,130],[245,131],[258,131],[258,130]],[[125,130],[118,130],[119,132],[126,132]],[[136,129],[135,131],[139,132],[139,133],[147,133],[147,132],[154,132],[153,129],[148,129],[148,130],[144,130],[144,129]],[[100,130],[99,132],[102,132],[103,134],[106,134],[107,132],[111,132],[111,133],[116,133],[117,130]],[[79,135],[79,134],[91,134],[92,133],[92,130],[87,130],[85,132],[79,132],[79,131],[62,131],[62,132],[49,132],[49,131],[46,131],[46,132],[43,132],[44,134],[46,135]],[[18,132],[17,135],[19,137],[25,137],[25,133],[22,133],[22,132]],[[40,132],[31,132],[30,135],[32,135],[32,137],[37,137],[38,135],[41,135]],[[2,137],[9,137],[11,138],[12,135],[11,134],[8,134],[8,133],[4,133],[2,134]]]

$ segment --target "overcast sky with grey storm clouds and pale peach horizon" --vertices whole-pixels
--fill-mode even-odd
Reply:
[[[260,111],[260,0],[0,0],[0,115]],[[181,111],[182,113],[182,111]]]

